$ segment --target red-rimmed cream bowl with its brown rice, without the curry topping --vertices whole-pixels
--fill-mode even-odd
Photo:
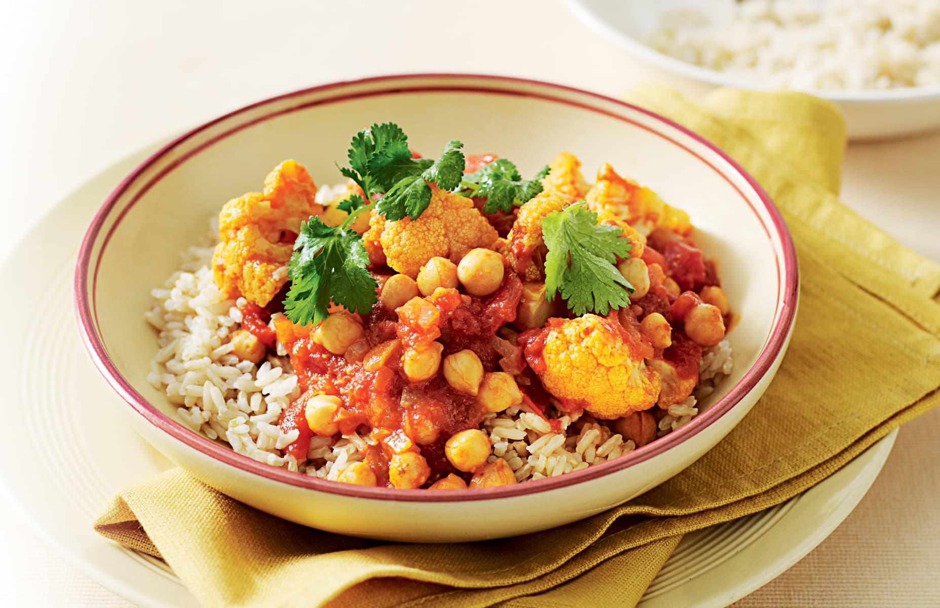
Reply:
[[[569,149],[586,167],[618,166],[689,213],[697,245],[721,262],[734,323],[703,351],[695,396],[663,412],[658,439],[637,446],[603,425],[572,430],[569,417],[549,427],[509,408],[482,428],[493,438],[491,461],[509,462],[513,483],[452,491],[340,483],[338,472],[368,450],[368,432],[315,437],[304,460],[288,457],[296,435],[278,429],[277,418],[298,397],[298,378],[279,350],[255,361],[235,356],[233,336],[247,321],[243,303],[213,284],[207,229],[225,201],[257,189],[259,176],[284,158],[303,161],[322,198],[330,197],[321,184],[337,182],[334,163],[350,133],[386,120],[405,129],[414,149],[439,149],[441,133],[460,136],[468,150],[498,150],[525,175],[544,163],[545,150]],[[630,152],[637,148],[644,154]],[[773,203],[695,133],[566,86],[424,74],[297,91],[180,136],[118,184],[95,216],[75,298],[86,347],[119,397],[128,432],[198,479],[323,530],[444,542],[573,522],[700,458],[774,377],[795,319],[797,273]]]

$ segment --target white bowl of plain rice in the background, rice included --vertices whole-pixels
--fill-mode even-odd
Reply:
[[[804,91],[848,135],[940,127],[940,0],[565,0],[588,27],[698,86]]]

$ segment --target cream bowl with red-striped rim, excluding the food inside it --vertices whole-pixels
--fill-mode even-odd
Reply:
[[[514,486],[472,491],[367,488],[291,473],[186,428],[147,382],[156,351],[144,321],[150,289],[179,266],[229,198],[255,190],[285,158],[318,183],[341,181],[352,133],[394,120],[418,150],[460,138],[535,171],[557,151],[603,162],[690,212],[697,243],[721,260],[741,320],[735,368],[689,424],[610,462]],[[592,177],[592,176],[589,176]],[[87,350],[131,428],[211,487],[275,516],[388,540],[501,538],[573,522],[650,490],[697,460],[742,419],[774,377],[797,306],[787,227],[727,154],[642,108],[568,86],[514,78],[419,74],[316,86],[260,101],[181,135],[121,181],[95,215],[75,271]],[[585,379],[589,381],[589,379]],[[546,506],[551,506],[546,508]]]

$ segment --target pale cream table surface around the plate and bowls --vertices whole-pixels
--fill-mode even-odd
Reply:
[[[134,150],[251,101],[379,73],[482,71],[617,95],[662,74],[557,0],[10,3],[0,37],[0,257],[73,188]],[[376,41],[371,41],[372,37]],[[695,92],[695,91],[689,91]],[[848,148],[843,200],[940,261],[940,133]],[[940,411],[901,429],[836,532],[736,606],[940,605]],[[11,605],[127,606],[0,499]],[[38,567],[41,565],[40,567]]]

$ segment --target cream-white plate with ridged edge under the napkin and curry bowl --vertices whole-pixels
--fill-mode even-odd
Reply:
[[[159,560],[98,536],[91,522],[118,489],[171,463],[112,407],[118,397],[88,359],[75,327],[72,264],[88,219],[154,148],[103,171],[60,202],[0,268],[8,297],[7,458],[0,489],[88,576],[145,606],[197,606]],[[37,373],[40,372],[40,373]],[[126,408],[125,408],[126,409]],[[15,432],[12,432],[15,430]],[[682,539],[650,585],[645,608],[725,606],[775,578],[822,542],[881,470],[897,431],[815,488],[778,507]]]

